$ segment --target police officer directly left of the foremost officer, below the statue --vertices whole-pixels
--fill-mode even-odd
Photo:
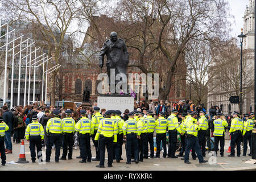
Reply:
[[[98,140],[94,140],[95,135],[98,131],[98,125],[100,124],[101,119],[103,119],[104,117],[101,115],[100,113],[100,107],[93,107],[93,110],[96,112],[93,116],[92,116],[92,122],[94,124],[94,133],[92,135],[92,140],[93,140],[93,144],[95,146],[95,150],[96,150],[96,158],[92,159],[94,161],[100,161],[100,150],[98,150]]]

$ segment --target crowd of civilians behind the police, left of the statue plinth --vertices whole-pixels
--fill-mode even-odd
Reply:
[[[53,118],[53,110],[60,110],[61,119],[65,117],[65,109],[62,107],[46,106],[35,102],[32,105],[22,105],[16,106],[9,110],[7,104],[3,105],[0,109],[0,117],[3,117],[3,121],[9,126],[9,130],[5,133],[5,145],[6,154],[13,154],[13,143],[20,143],[20,140],[25,139],[25,131],[28,124],[32,123],[32,115],[37,115],[39,118],[39,123],[43,125],[44,132],[46,133],[46,125],[50,118]],[[94,113],[93,107],[79,106],[76,110],[72,110],[71,117],[75,122],[79,121],[81,118],[80,110],[86,110],[86,117],[92,118]],[[104,115],[106,109],[101,109],[101,114]],[[11,141],[13,137],[13,141]],[[75,135],[75,149],[77,149],[77,135]],[[46,138],[42,142],[42,147],[46,146]],[[54,146],[53,146],[54,148]]]

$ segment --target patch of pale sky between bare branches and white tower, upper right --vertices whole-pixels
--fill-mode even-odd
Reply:
[[[240,34],[241,28],[243,28],[243,16],[245,15],[246,5],[249,5],[249,0],[228,0],[230,6],[230,13],[234,15],[235,23],[232,26],[232,37],[237,37]]]

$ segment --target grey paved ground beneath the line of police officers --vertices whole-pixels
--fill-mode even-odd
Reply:
[[[108,168],[107,166],[107,160],[105,160],[105,168],[96,168],[96,165],[99,164],[99,162],[93,162],[92,163],[79,163],[79,160],[76,159],[76,156],[80,154],[80,150],[73,150],[73,159],[72,160],[59,160],[59,163],[55,163],[54,157],[55,157],[55,150],[52,150],[51,155],[51,162],[46,164],[39,164],[39,163],[32,163],[31,157],[30,157],[30,150],[28,142],[25,140],[25,151],[26,151],[26,159],[29,161],[27,164],[6,164],[6,166],[0,166],[0,170],[2,171],[10,171],[10,170],[49,170],[49,171],[56,171],[56,170],[75,170],[75,171],[96,171],[96,170],[104,170],[104,171],[139,171],[139,170],[146,170],[146,171],[225,171],[225,170],[256,170],[255,164],[246,164],[244,163],[245,160],[250,160],[250,156],[241,156],[240,158],[229,158],[227,155],[230,153],[227,153],[229,141],[225,140],[225,154],[224,157],[218,156],[212,157],[211,155],[206,156],[206,160],[210,160],[209,163],[205,164],[199,164],[198,159],[192,160],[192,157],[190,155],[189,161],[191,164],[184,164],[184,160],[178,159],[170,159],[170,158],[154,158],[154,159],[144,159],[143,162],[140,162],[139,164],[132,163],[131,165],[126,164],[126,152],[125,152],[125,146],[123,145],[123,155],[120,163],[113,162],[113,167]],[[93,143],[91,142],[92,146],[92,156],[95,156],[95,148],[93,146]],[[249,147],[249,146],[248,146]],[[46,150],[43,149],[45,152]],[[19,152],[20,152],[20,144],[13,144],[13,154],[6,154],[6,162],[11,162],[12,160],[14,162],[18,161],[19,158]],[[62,150],[60,154],[62,155]],[[242,152],[242,147],[241,147]],[[249,152],[249,151],[248,151]],[[249,153],[248,153],[249,154]],[[44,155],[44,154],[43,154]],[[105,153],[105,158],[107,158],[107,152]],[[162,154],[160,155],[162,156]],[[43,159],[45,159],[45,156],[43,156]],[[214,164],[216,162],[217,164]]]

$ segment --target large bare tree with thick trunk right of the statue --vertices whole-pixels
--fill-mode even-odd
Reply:
[[[137,62],[130,66],[144,73],[163,72],[159,75],[161,100],[170,92],[188,43],[192,40],[214,42],[229,32],[229,9],[225,0],[122,0],[114,15],[125,21],[126,27],[119,32],[123,32],[127,47],[138,55]],[[159,59],[152,59],[152,53]]]

